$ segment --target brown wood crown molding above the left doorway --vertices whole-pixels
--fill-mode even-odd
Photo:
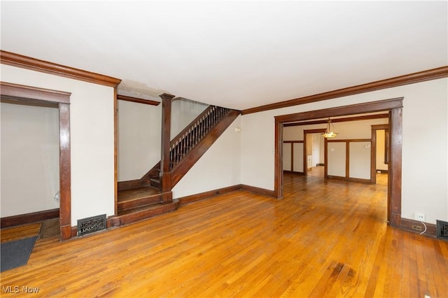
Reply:
[[[15,54],[13,52],[6,52],[4,50],[0,50],[0,63],[110,87],[117,87],[121,82],[118,78],[112,78],[90,71],[83,71],[81,69],[74,69],[73,67],[47,62]]]

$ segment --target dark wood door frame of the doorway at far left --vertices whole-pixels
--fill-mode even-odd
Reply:
[[[56,104],[59,110],[59,236],[71,238],[70,92],[0,82],[1,97],[20,102]]]

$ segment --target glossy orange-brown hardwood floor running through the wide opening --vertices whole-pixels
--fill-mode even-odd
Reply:
[[[448,242],[388,227],[385,183],[284,182],[281,200],[236,191],[38,240],[25,267],[1,273],[1,296],[25,286],[34,297],[448,297]]]

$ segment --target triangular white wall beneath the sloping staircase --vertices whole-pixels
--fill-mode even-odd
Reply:
[[[222,187],[239,185],[241,181],[241,116],[232,122],[216,142],[202,155],[186,176],[173,189],[173,198],[186,197]]]

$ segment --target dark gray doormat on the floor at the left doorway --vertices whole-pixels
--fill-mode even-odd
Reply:
[[[0,244],[0,272],[26,265],[37,236]]]

